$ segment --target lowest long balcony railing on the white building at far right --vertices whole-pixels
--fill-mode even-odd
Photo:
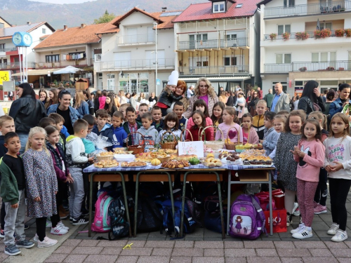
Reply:
[[[292,62],[286,64],[265,64],[265,73],[324,72],[351,70],[351,60],[326,62]]]

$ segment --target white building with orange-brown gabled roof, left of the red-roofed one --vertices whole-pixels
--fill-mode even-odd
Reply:
[[[175,68],[172,20],[178,14],[132,8],[102,28],[98,32],[101,61],[94,63],[95,88],[150,94],[156,91],[157,67],[161,83],[156,93],[160,94]]]

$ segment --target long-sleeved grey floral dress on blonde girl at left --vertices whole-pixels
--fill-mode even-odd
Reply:
[[[58,180],[51,154],[45,150],[29,149],[22,156],[27,182],[27,208],[29,217],[51,217],[58,213],[55,191],[58,191]],[[36,202],[34,198],[40,197]]]

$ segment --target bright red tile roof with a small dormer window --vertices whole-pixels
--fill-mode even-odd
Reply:
[[[258,2],[261,0],[237,0],[227,12],[212,13],[212,3],[190,4],[173,22],[186,22],[195,20],[213,20],[222,18],[241,18],[252,16],[256,13]],[[243,4],[240,8],[235,8]]]

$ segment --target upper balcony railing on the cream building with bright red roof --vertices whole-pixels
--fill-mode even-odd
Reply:
[[[229,48],[247,46],[248,39],[211,39],[205,41],[180,41],[178,50],[204,49],[204,48]]]

